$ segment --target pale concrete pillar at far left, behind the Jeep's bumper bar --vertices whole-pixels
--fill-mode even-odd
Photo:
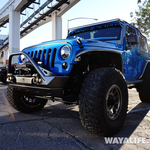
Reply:
[[[20,12],[14,11],[12,5],[9,10],[9,55],[20,51]]]

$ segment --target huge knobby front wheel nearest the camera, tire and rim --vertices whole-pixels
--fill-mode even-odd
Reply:
[[[82,125],[88,131],[112,136],[125,121],[127,105],[127,85],[120,71],[99,68],[87,76],[80,93],[79,114]],[[117,113],[111,113],[111,108],[115,108]]]

